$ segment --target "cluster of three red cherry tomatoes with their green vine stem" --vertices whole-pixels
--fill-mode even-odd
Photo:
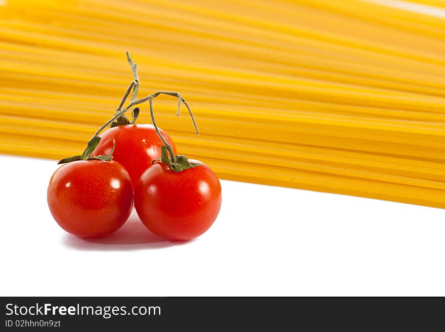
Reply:
[[[62,159],[48,186],[48,205],[57,223],[80,238],[106,236],[119,229],[134,207],[144,225],[168,240],[190,240],[204,233],[215,221],[221,206],[221,186],[204,163],[176,155],[166,132],[158,128],[153,98],[177,97],[159,91],[137,99],[137,65],[127,53],[135,79],[112,119],[88,141],[78,156]],[[131,93],[129,105],[123,108]],[[124,115],[131,107],[149,101],[151,124],[135,124]],[[108,125],[107,129],[102,134]],[[196,128],[197,129],[197,128]]]

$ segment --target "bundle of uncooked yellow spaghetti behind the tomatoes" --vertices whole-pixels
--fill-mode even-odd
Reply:
[[[139,97],[181,92],[200,135],[169,97],[157,123],[220,178],[444,208],[445,19],[400,3],[0,1],[0,153],[79,154],[129,51]]]

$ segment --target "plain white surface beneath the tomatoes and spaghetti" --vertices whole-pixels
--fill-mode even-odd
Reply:
[[[65,233],[54,161],[0,156],[2,296],[445,296],[445,211],[221,181],[215,224],[185,244],[137,215],[110,238]]]

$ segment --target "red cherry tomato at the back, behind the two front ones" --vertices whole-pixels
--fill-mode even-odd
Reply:
[[[171,138],[165,131],[159,130],[176,153]],[[115,139],[116,149],[113,152],[113,160],[125,167],[130,174],[133,187],[136,186],[151,162],[161,157],[162,141],[151,124],[127,124],[113,127],[100,134],[100,137],[102,139],[92,156],[109,154],[113,149],[113,139]]]

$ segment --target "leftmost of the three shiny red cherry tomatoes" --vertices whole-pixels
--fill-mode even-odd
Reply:
[[[62,165],[48,186],[48,205],[57,223],[80,238],[119,229],[133,200],[130,176],[115,161],[79,160]]]

